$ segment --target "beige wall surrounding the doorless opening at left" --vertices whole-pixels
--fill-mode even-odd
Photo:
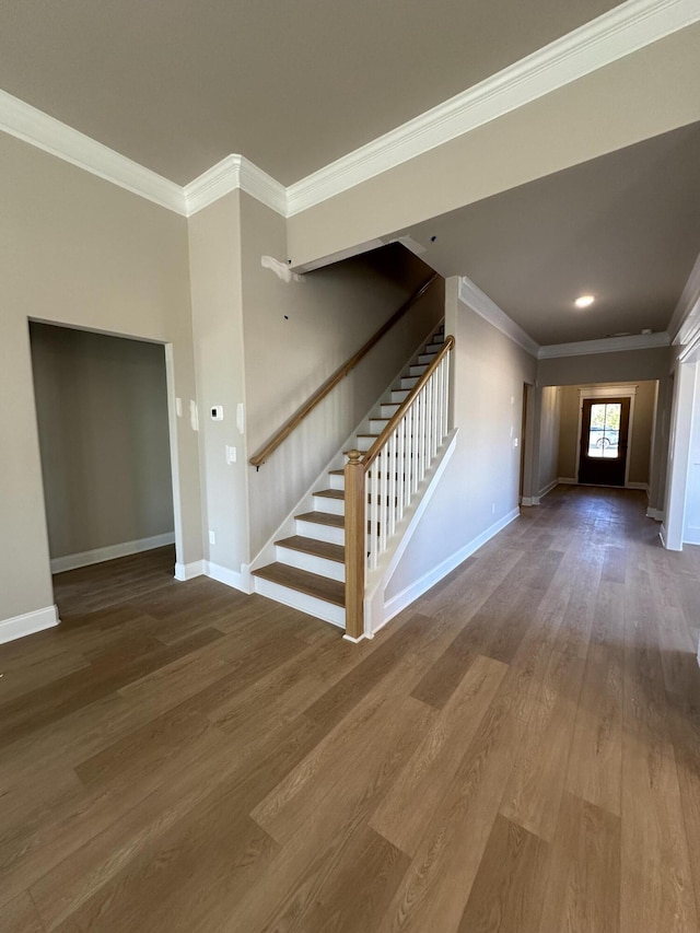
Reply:
[[[54,604],[27,318],[172,345],[195,397],[184,218],[0,135],[0,620]],[[197,438],[177,419],[180,560],[201,559]]]

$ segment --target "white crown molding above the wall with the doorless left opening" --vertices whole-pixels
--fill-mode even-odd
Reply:
[[[0,91],[0,130],[175,213],[185,213],[183,189],[175,182],[4,91]]]

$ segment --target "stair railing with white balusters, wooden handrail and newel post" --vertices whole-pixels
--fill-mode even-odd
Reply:
[[[454,337],[418,380],[366,453],[348,451],[346,504],[346,637],[364,634],[368,571],[377,568],[398,523],[448,432],[450,352]]]

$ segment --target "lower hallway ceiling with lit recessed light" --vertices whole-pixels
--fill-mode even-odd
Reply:
[[[665,330],[700,253],[700,124],[398,233],[542,346]]]

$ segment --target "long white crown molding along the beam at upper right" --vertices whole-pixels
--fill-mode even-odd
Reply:
[[[628,0],[287,189],[293,217],[700,20],[699,0]]]

